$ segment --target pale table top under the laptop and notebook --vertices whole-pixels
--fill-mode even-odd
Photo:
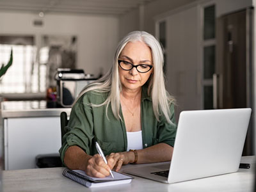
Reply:
[[[256,156],[242,157],[241,163],[250,163],[250,169],[239,169],[236,173],[190,180],[176,184],[164,184],[154,180],[134,177],[131,184],[107,188],[86,188],[62,176],[64,168],[44,168],[3,171],[3,191],[253,191]],[[128,165],[129,166],[144,166]]]

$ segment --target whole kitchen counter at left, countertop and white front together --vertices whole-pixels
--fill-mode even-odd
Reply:
[[[46,100],[1,102],[4,170],[36,168],[36,156],[58,154],[62,111],[69,116],[71,108],[47,108]]]

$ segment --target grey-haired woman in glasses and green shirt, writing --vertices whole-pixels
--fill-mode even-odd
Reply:
[[[154,36],[134,31],[118,45],[108,74],[87,86],[72,107],[61,159],[93,177],[106,177],[122,164],[170,161],[176,128],[161,46]]]

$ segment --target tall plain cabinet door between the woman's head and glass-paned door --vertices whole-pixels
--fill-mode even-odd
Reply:
[[[178,110],[200,109],[200,60],[198,59],[199,8],[174,13],[166,19],[166,78],[168,92]]]

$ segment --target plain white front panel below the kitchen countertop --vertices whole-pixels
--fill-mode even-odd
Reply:
[[[36,168],[38,154],[57,154],[60,147],[60,117],[4,119],[5,170]]]

